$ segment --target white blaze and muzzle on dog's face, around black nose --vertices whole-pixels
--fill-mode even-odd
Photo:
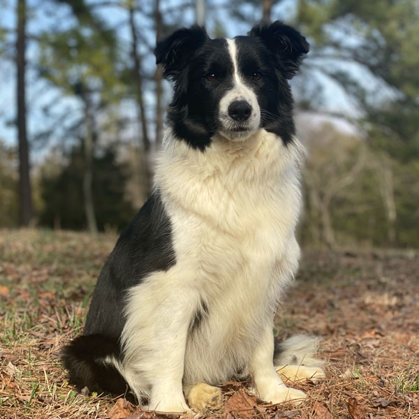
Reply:
[[[220,101],[219,120],[223,127],[221,134],[231,140],[244,139],[258,129],[260,124],[260,108],[255,92],[245,84],[243,75],[239,71],[235,40],[227,39],[226,41],[230,59],[233,62],[233,89],[230,89]],[[244,122],[237,123],[228,115],[228,107],[235,101],[246,101],[251,106],[251,115]],[[247,131],[232,131],[238,125],[241,128],[246,128]]]

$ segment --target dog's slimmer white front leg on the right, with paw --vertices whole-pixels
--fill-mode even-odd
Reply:
[[[256,385],[256,394],[260,399],[270,403],[281,403],[286,400],[304,399],[300,390],[288,388],[274,369],[274,335],[272,324],[265,328],[263,337],[255,348],[249,366],[249,372]]]

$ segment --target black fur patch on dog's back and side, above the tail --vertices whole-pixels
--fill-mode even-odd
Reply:
[[[98,277],[84,335],[119,339],[125,325],[126,291],[151,272],[175,264],[172,229],[159,193],[154,193],[119,237]]]

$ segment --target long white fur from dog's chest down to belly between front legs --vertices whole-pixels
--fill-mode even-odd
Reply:
[[[172,223],[177,286],[192,286],[205,318],[189,339],[185,380],[219,381],[246,367],[258,330],[297,267],[302,147],[260,130],[216,138],[200,152],[168,135],[156,186]]]

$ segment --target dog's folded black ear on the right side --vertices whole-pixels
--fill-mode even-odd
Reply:
[[[258,37],[278,58],[279,67],[289,80],[297,73],[302,57],[309,52],[306,38],[277,20],[272,24],[258,24],[250,31],[250,36]]]

